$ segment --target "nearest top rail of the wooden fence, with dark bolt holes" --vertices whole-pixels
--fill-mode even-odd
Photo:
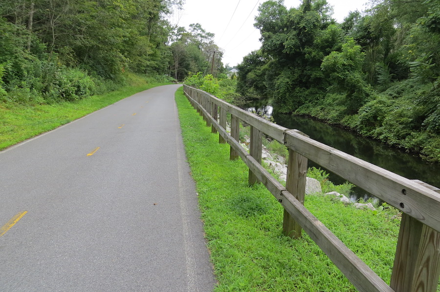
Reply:
[[[295,131],[286,146],[440,232],[440,194]]]

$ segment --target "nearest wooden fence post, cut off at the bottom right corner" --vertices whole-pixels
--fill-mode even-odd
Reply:
[[[438,188],[424,185],[440,193]],[[390,287],[396,292],[435,292],[439,277],[440,233],[403,213]]]

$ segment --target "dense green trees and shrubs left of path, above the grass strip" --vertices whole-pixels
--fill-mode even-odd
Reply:
[[[76,99],[127,70],[168,74],[172,5],[181,1],[0,1],[2,99]]]

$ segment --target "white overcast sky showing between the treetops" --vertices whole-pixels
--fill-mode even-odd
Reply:
[[[258,6],[265,0],[259,0],[252,11],[257,1],[185,0],[183,11],[175,12],[170,21],[187,29],[191,23],[200,23],[204,30],[215,34],[214,42],[224,50],[223,63],[235,66],[242,62],[244,56],[261,47],[260,31],[253,24],[258,15]],[[327,0],[327,2],[333,6],[333,18],[342,22],[350,11],[365,10],[368,0]],[[298,7],[300,3],[300,0],[284,1],[287,8]],[[231,19],[236,7],[237,10]],[[251,11],[252,14],[244,21]]]

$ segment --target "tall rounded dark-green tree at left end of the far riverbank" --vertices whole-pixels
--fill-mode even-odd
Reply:
[[[267,67],[259,64],[255,71],[245,70],[240,80],[247,80],[245,84],[261,96],[270,92],[281,112],[291,112],[311,98],[323,97],[327,82],[321,62],[340,47],[342,37],[328,3],[304,0],[298,8],[287,10],[283,1],[267,1],[259,12],[255,26],[261,32],[261,55]],[[254,57],[248,55],[241,67],[249,67],[245,63]]]

